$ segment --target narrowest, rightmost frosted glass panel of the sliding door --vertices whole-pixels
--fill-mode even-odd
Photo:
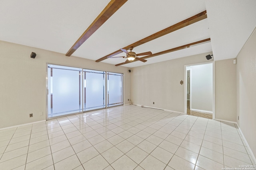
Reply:
[[[123,104],[123,75],[108,72],[108,106]]]

